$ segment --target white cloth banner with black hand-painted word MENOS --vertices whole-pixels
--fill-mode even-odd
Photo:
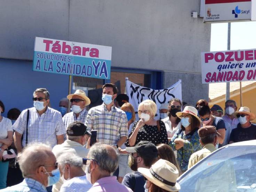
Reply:
[[[126,94],[129,97],[129,103],[133,105],[135,112],[138,112],[139,104],[146,100],[150,99],[157,104],[157,109],[163,103],[168,103],[172,98],[178,98],[182,101],[182,89],[181,89],[181,80],[178,80],[174,85],[165,88],[165,89],[150,89],[147,87],[142,87],[137,85],[128,79],[126,82]],[[155,119],[159,119],[159,110],[157,110],[157,116]],[[138,114],[136,113],[136,120],[138,120]]]

